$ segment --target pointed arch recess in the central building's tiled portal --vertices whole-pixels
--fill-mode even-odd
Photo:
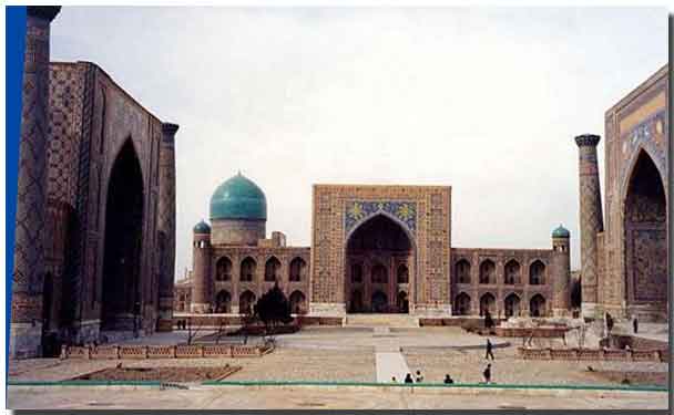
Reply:
[[[375,215],[354,229],[347,240],[345,269],[349,312],[409,312],[415,248],[397,220]]]

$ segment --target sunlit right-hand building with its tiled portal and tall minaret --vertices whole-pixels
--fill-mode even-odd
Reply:
[[[603,208],[600,137],[576,138],[586,317],[667,319],[668,96],[665,65],[606,111]]]

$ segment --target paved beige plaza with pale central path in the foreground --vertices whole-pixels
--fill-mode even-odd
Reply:
[[[207,334],[206,332],[204,334]],[[171,344],[184,341],[186,333],[174,332],[124,343]],[[276,338],[276,350],[262,357],[242,359],[157,359],[157,360],[58,360],[10,362],[10,380],[64,381],[113,367],[222,366],[241,365],[227,381],[293,381],[388,383],[402,382],[417,370],[425,383],[441,383],[449,373],[458,384],[482,381],[487,338],[459,328],[305,328]],[[242,342],[226,338],[225,342]],[[258,341],[252,339],[251,341]],[[666,386],[668,364],[658,362],[611,361],[523,361],[517,355],[521,339],[491,338],[496,345],[492,380],[518,385],[621,385],[630,378],[635,385]],[[591,370],[590,370],[591,367]],[[42,387],[40,393],[24,386],[10,386],[10,407],[111,408],[445,408],[473,407],[602,407],[663,408],[663,392],[569,391],[569,390],[483,390],[389,386],[204,386],[185,384],[187,391],[159,388],[104,390],[86,387]],[[31,392],[32,391],[32,392]],[[89,391],[89,392],[85,392]],[[534,393],[537,398],[529,396]],[[602,398],[602,396],[613,398]],[[113,396],[114,398],[111,398]],[[123,398],[121,398],[123,396]],[[99,403],[96,403],[99,402]],[[122,404],[123,402],[123,404]],[[552,406],[551,406],[552,405]]]

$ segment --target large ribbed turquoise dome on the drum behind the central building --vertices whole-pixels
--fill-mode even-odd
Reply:
[[[219,185],[211,198],[211,220],[267,219],[267,198],[253,180],[238,173]]]

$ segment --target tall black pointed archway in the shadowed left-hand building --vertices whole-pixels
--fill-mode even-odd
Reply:
[[[139,330],[143,177],[127,139],[108,181],[103,259],[102,330]]]

